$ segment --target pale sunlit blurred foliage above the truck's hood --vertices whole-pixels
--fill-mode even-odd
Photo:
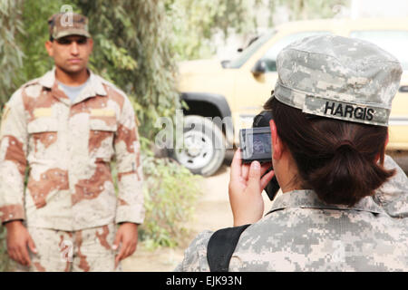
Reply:
[[[177,60],[207,58],[215,53],[211,37],[230,30],[247,33],[256,28],[254,0],[166,0],[174,32],[173,50]]]

